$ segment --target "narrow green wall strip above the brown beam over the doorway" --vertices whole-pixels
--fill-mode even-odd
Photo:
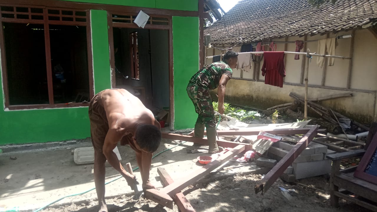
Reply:
[[[177,9],[185,11],[198,11],[198,0],[66,0],[70,2],[85,2],[107,5],[136,6],[159,9]]]

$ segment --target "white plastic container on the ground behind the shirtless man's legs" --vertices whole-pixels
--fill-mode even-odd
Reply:
[[[113,150],[118,157],[118,160],[121,161],[122,158],[120,156],[118,147],[115,147]],[[81,147],[76,148],[73,155],[74,161],[76,164],[90,164],[94,163],[94,149],[93,147]],[[109,162],[106,161],[105,166],[111,166]]]

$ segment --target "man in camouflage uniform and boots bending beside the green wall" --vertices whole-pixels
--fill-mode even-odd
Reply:
[[[232,68],[236,68],[238,53],[227,51],[224,61],[204,66],[194,74],[187,85],[187,94],[194,103],[198,119],[195,123],[194,136],[203,138],[204,127],[207,128],[208,153],[219,152],[216,143],[216,120],[209,90],[218,89],[219,113],[224,113],[225,86],[232,77]]]

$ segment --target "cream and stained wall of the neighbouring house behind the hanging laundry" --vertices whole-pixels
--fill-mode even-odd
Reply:
[[[348,34],[351,34],[351,32],[340,32],[338,35]],[[323,39],[326,38],[325,36],[326,35],[308,36],[307,40]],[[336,36],[335,34],[329,34],[329,37]],[[276,41],[284,40],[285,38]],[[288,38],[288,41],[295,40],[303,40],[303,38]],[[338,39],[337,42],[338,45],[335,54],[346,57],[350,56],[351,38]],[[295,51],[295,48],[294,43],[289,43],[287,44],[286,51]],[[307,48],[309,48],[311,52],[317,52],[318,42],[308,42]],[[284,51],[284,44],[278,43],[277,51]],[[213,53],[213,51],[207,52],[208,56]],[[218,51],[215,51],[215,53],[219,54]],[[304,96],[305,87],[300,83],[303,57],[300,56],[300,60],[294,60],[293,54],[286,54],[285,57],[287,76],[284,82],[297,85],[284,84],[283,88],[279,88],[264,84],[263,81],[231,79],[226,87],[225,101],[267,109],[277,104],[291,102],[292,98],[289,97],[290,92]],[[375,111],[377,90],[377,83],[375,83],[377,81],[376,57],[377,38],[368,29],[356,30],[350,88],[347,89],[349,60],[335,59],[334,66],[326,66],[326,78],[324,86],[322,86],[323,69],[319,68],[317,65],[317,57],[313,57],[309,64],[308,97],[316,98],[352,92],[353,97],[326,100],[322,101],[321,104],[363,123],[370,123],[371,121],[377,120]],[[263,61],[260,65],[262,66],[262,64]],[[233,75],[233,77],[235,76]],[[248,77],[248,79],[254,80],[252,77]],[[261,71],[259,71],[259,80],[264,80]]]

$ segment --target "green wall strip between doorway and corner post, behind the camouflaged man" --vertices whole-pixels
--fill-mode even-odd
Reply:
[[[199,70],[199,18],[173,17],[174,128],[193,128],[198,117],[186,86]]]

